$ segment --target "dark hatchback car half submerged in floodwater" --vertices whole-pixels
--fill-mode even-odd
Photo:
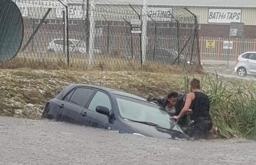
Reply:
[[[42,118],[147,137],[190,140],[154,103],[104,87],[73,84],[45,105]]]

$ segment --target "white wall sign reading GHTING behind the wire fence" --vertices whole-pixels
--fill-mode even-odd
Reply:
[[[171,7],[149,7],[147,15],[155,21],[171,21],[173,10]],[[148,18],[150,20],[150,18]]]

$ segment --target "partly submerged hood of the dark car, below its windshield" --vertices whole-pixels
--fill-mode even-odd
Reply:
[[[183,132],[175,132],[173,130],[159,128],[159,127],[147,125],[144,123],[137,123],[137,122],[133,122],[126,119],[124,119],[124,122],[138,131],[134,133],[142,134],[146,137],[174,139],[174,140],[191,140],[190,137],[188,137],[187,134]]]

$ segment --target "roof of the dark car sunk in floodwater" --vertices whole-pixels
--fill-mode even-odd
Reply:
[[[121,90],[114,90],[114,89],[111,89],[111,88],[107,88],[107,87],[101,87],[101,86],[97,86],[97,85],[89,85],[89,84],[71,84],[70,86],[73,87],[78,87],[78,86],[83,86],[83,87],[92,87],[92,88],[96,88],[96,89],[99,89],[99,90],[107,90],[108,92],[111,92],[112,94],[114,95],[119,95],[119,96],[124,96],[124,97],[130,97],[130,98],[134,98],[134,99],[137,99],[137,100],[141,100],[141,101],[147,101],[145,98],[143,97],[139,97],[139,96],[136,96],[134,94],[130,94],[130,93],[127,93],[127,92],[123,92]]]

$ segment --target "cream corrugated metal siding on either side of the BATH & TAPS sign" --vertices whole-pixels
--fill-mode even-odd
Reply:
[[[198,16],[199,24],[208,24],[209,7],[187,7]],[[256,26],[256,8],[242,8],[242,22],[244,25]]]

